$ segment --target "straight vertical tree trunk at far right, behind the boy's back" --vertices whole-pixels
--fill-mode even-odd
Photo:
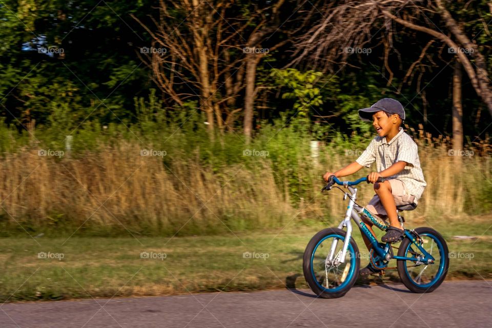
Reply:
[[[455,159],[461,162],[461,150],[463,148],[463,108],[461,106],[461,63],[456,60],[455,73],[453,75],[453,149]]]

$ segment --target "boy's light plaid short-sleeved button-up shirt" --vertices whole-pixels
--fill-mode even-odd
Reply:
[[[407,165],[403,171],[388,178],[401,180],[407,193],[415,197],[415,203],[422,196],[424,188],[427,186],[420,168],[417,144],[408,134],[403,132],[401,127],[398,134],[389,142],[386,141],[386,137],[380,136],[371,140],[369,146],[356,161],[367,168],[376,162],[378,172],[386,170],[398,161],[406,162]]]

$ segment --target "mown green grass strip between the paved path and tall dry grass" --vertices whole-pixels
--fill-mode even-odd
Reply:
[[[487,229],[491,221],[490,216],[440,219],[413,222],[407,228],[430,226],[443,234],[455,254],[448,279],[490,279],[492,229]],[[1,238],[0,300],[305,288],[302,254],[321,228],[288,226],[262,233],[174,238],[74,235],[67,240],[68,236],[31,238],[27,234]],[[454,235],[479,238],[462,241]],[[355,239],[365,254],[358,230]],[[367,263],[365,257],[361,261],[361,265]],[[394,265],[392,261],[390,266]],[[379,283],[397,280],[396,270],[387,271],[383,278],[370,278]]]

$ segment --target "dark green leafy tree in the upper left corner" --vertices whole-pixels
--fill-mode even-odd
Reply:
[[[144,43],[128,13],[150,2],[5,0],[0,3],[0,99],[6,122],[32,119],[71,130],[86,119],[131,121],[133,97],[151,84],[135,47]],[[55,117],[56,116],[56,117]]]

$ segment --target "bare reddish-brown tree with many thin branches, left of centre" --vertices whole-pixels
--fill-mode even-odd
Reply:
[[[170,104],[182,107],[198,99],[210,132],[215,125],[220,131],[232,128],[231,117],[242,110],[226,106],[234,105],[243,88],[244,56],[237,39],[252,18],[229,23],[224,17],[237,9],[227,0],[179,0],[169,5],[161,0],[158,10],[152,28],[134,17],[151,35],[150,49],[161,49],[142,56],[156,85]]]

